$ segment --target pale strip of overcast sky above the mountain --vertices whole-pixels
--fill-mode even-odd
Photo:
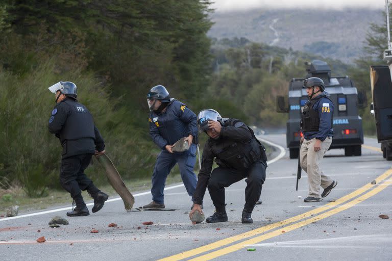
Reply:
[[[374,8],[383,9],[385,0],[211,0],[216,12],[253,8]],[[389,1],[391,2],[391,1]]]

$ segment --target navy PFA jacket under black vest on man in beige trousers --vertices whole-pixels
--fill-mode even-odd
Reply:
[[[333,137],[332,115],[334,105],[330,99],[326,98],[328,96],[329,94],[327,92],[323,92],[314,97],[314,99],[318,99],[313,109],[318,111],[320,126],[318,127],[318,132],[303,132],[306,140],[316,138],[317,140],[324,141],[327,137]]]

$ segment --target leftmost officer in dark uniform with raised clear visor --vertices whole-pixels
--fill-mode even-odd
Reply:
[[[92,155],[105,153],[105,142],[88,109],[77,101],[77,87],[74,83],[59,82],[48,89],[56,94],[57,103],[49,119],[49,131],[59,138],[63,147],[60,184],[76,203],[67,216],[88,216],[81,190],[87,190],[94,199],[93,213],[101,210],[108,199],[108,195],[96,188],[84,174]]]

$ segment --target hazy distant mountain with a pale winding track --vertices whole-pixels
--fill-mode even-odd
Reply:
[[[384,22],[382,10],[251,10],[212,14],[209,37],[245,37],[254,42],[292,48],[352,62],[363,55],[371,22]],[[385,44],[386,45],[386,44]]]

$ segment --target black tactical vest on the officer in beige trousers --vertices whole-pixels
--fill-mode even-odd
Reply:
[[[320,127],[320,117],[318,117],[318,111],[314,110],[313,106],[323,97],[332,102],[329,97],[324,95],[306,102],[304,110],[301,113],[301,129],[303,132],[318,132],[318,127]],[[332,114],[331,117],[333,117]]]

